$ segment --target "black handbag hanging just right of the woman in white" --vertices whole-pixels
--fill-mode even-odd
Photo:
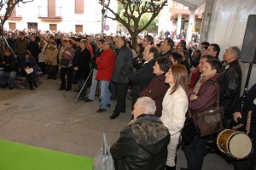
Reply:
[[[194,139],[196,134],[197,130],[195,127],[195,122],[190,114],[190,111],[188,111],[183,129],[181,130],[183,144],[190,144],[190,142],[192,141],[192,139]]]

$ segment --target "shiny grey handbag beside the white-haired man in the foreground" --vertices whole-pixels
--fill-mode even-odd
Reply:
[[[105,133],[103,133],[102,148],[94,158],[94,170],[114,170],[113,157]]]

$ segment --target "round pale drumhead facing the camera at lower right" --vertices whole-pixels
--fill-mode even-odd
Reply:
[[[248,156],[252,149],[252,141],[246,133],[235,133],[230,136],[228,150],[231,156],[242,159]]]

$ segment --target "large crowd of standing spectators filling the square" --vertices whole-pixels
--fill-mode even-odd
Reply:
[[[180,40],[176,44],[166,37],[155,44],[154,37],[146,35],[133,49],[129,37],[18,33],[18,37],[15,32],[6,34],[9,47],[0,60],[2,88],[13,90],[19,75],[26,77],[32,90],[38,87],[38,71],[54,80],[59,72],[59,90],[70,91],[77,83],[73,90],[81,91],[85,102],[95,100],[100,84],[101,105],[96,112],[107,111],[110,99],[115,99],[110,119],[125,112],[126,94],[131,88],[131,122],[111,147],[116,169],[176,169],[177,144],[186,113],[189,110],[195,116],[196,111],[216,106],[218,91],[225,127],[246,122],[247,111],[255,113],[256,93],[246,100],[253,102],[246,104],[249,109],[236,108],[241,92],[241,52],[236,46],[227,48],[220,61],[217,43],[201,42],[199,48],[192,42]],[[254,114],[252,127],[255,120]],[[255,133],[251,128],[248,135],[254,139]],[[189,170],[202,168],[208,140],[208,136],[198,134],[184,145]],[[235,168],[253,169],[254,152],[247,160],[236,161]]]

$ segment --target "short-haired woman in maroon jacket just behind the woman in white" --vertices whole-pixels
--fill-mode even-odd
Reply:
[[[165,82],[165,74],[170,68],[170,60],[165,57],[157,58],[154,63],[154,77],[149,82],[148,86],[143,89],[140,97],[148,96],[154,99],[156,105],[155,116],[160,117],[162,115],[162,102],[166,94],[169,85]]]

